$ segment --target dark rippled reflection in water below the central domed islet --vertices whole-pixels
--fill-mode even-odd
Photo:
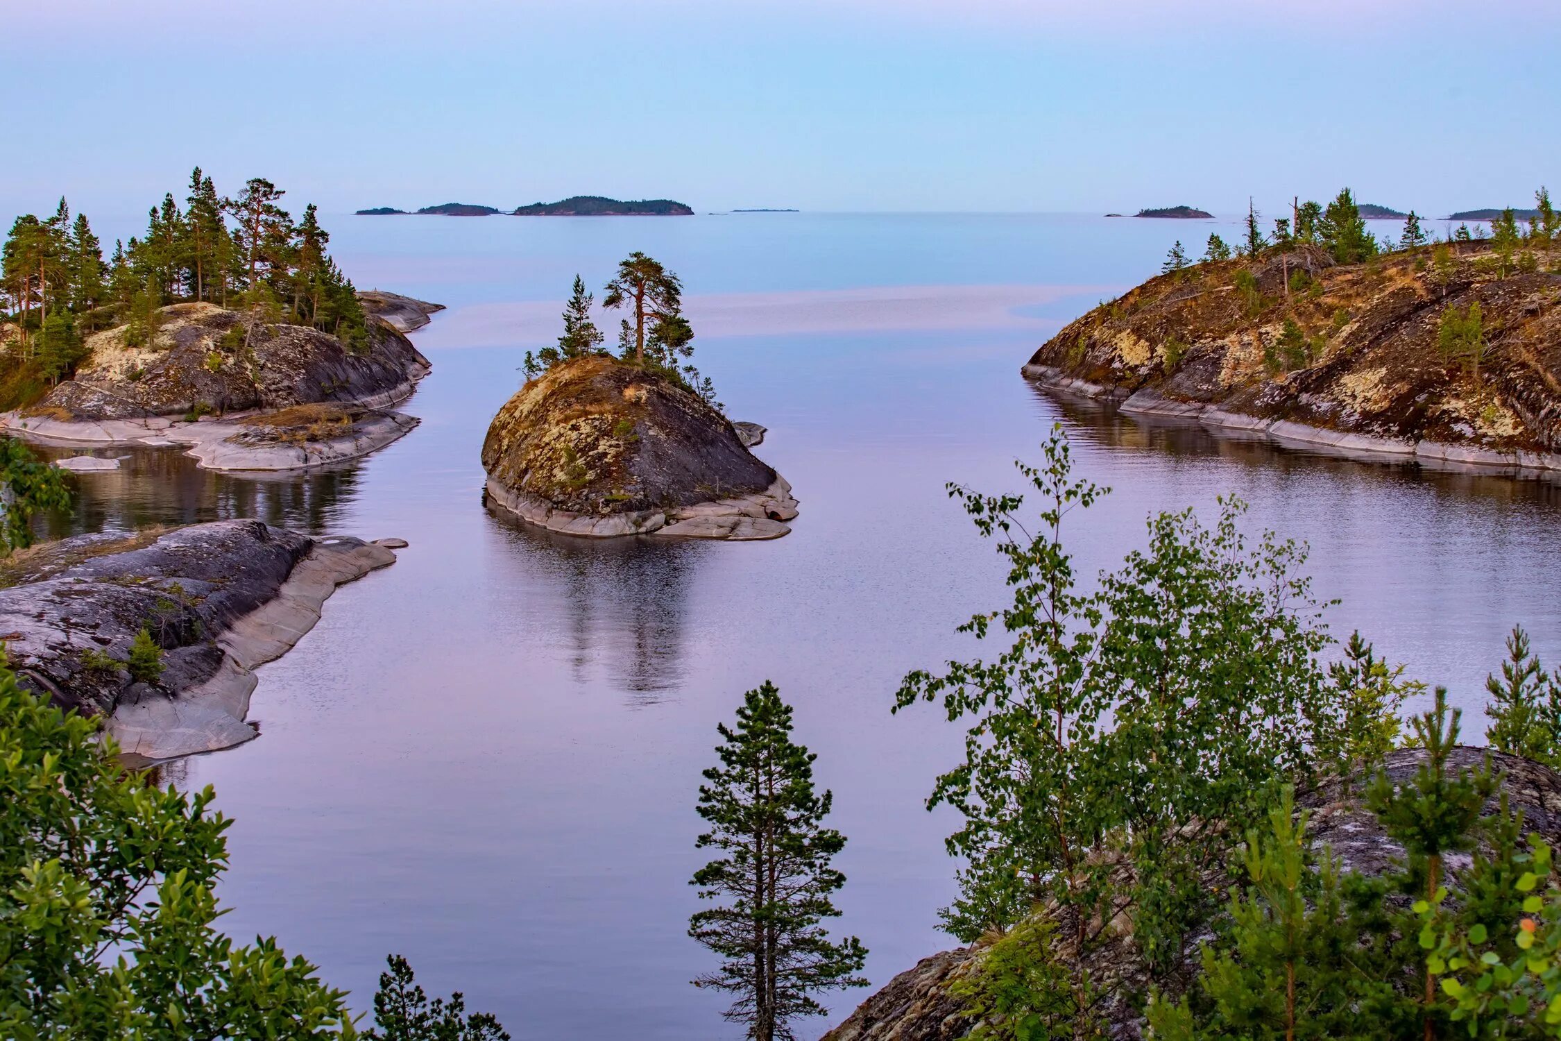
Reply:
[[[667,699],[684,679],[688,585],[707,545],[652,538],[579,538],[526,524],[485,501],[493,529],[512,549],[506,567],[548,579],[556,635],[568,646],[571,679],[604,666],[631,705]],[[515,588],[524,579],[503,582]]]

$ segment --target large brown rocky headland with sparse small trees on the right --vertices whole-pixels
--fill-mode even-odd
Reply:
[[[1374,236],[1349,190],[1272,228],[1249,209],[1241,242],[1179,242],[1024,375],[1336,453],[1561,468],[1561,219],[1545,190],[1534,212],[1435,242],[1414,212]]]

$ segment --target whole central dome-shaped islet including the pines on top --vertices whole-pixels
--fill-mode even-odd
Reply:
[[[791,485],[754,457],[692,364],[682,284],[656,259],[618,264],[603,304],[626,312],[617,351],[576,276],[557,346],[528,353],[526,384],[482,442],[487,498],[532,524],[596,538],[759,540],[790,532]]]

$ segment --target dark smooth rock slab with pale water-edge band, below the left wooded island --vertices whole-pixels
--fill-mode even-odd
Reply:
[[[109,716],[128,752],[211,751],[254,737],[250,670],[297,643],[337,584],[393,560],[378,545],[253,520],[76,535],[8,562],[19,584],[0,588],[0,638],[25,685]],[[142,627],[162,649],[153,682],[123,668]]]

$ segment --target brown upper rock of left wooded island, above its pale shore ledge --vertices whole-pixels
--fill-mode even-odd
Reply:
[[[250,346],[228,337],[242,315],[215,304],[162,309],[153,343],[126,346],[125,328],[87,340],[91,357],[30,412],[55,420],[134,420],[195,409],[239,412],[322,401],[382,407],[412,393],[428,359],[389,322],[370,318],[354,354],[312,328],[256,328]]]

